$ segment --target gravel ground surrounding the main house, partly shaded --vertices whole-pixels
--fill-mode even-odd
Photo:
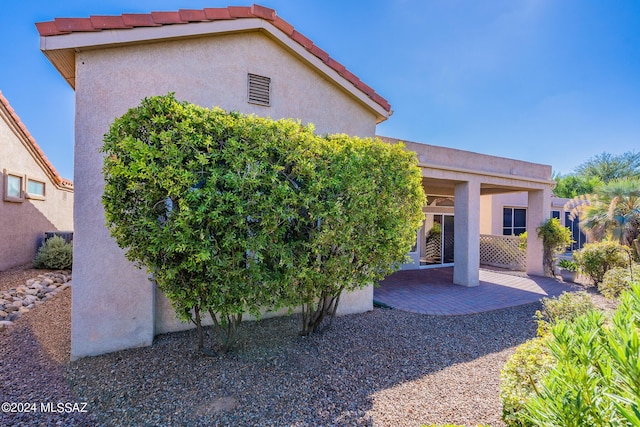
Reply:
[[[66,289],[0,331],[1,402],[87,402],[87,413],[6,414],[0,425],[503,425],[500,369],[535,334],[539,304],[467,316],[398,310],[247,322],[237,350],[195,354],[193,331],[69,362]]]

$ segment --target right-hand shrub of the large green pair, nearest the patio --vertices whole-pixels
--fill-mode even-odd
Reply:
[[[321,146],[317,200],[296,229],[306,242],[292,289],[303,305],[303,334],[335,314],[342,292],[377,283],[405,262],[426,202],[415,155],[402,145],[334,135]]]

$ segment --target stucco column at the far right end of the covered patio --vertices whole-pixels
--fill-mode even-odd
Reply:
[[[535,190],[528,192],[527,208],[527,274],[544,276],[542,263],[542,239],[538,238],[538,228],[549,219],[551,210],[551,190]]]

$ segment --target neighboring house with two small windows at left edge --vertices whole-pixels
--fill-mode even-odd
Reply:
[[[73,230],[63,179],[0,92],[0,271],[33,261],[44,233]]]

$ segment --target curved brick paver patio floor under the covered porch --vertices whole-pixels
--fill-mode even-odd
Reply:
[[[403,270],[387,277],[373,300],[413,313],[456,315],[513,307],[577,290],[559,280],[480,269],[480,285],[453,284],[453,268]]]

